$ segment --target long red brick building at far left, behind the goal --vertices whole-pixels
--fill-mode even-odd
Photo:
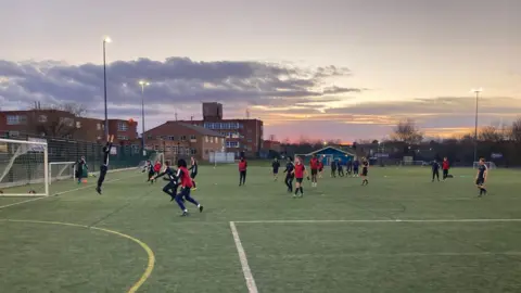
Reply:
[[[109,119],[109,133],[117,144],[139,144],[136,122]],[[84,141],[104,141],[104,120],[76,117],[60,110],[0,112],[0,133],[16,138],[23,135],[63,137]]]

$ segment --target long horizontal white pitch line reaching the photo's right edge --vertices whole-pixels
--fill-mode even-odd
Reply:
[[[521,222],[521,219],[336,219],[336,220],[236,220],[240,224],[327,224],[327,222]]]

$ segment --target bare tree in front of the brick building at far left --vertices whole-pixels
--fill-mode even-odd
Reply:
[[[78,129],[76,118],[85,116],[87,107],[82,104],[63,103],[40,107],[35,106],[38,117],[36,131],[47,137],[71,137]]]

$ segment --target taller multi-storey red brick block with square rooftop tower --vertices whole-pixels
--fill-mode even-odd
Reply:
[[[264,123],[259,119],[224,119],[223,104],[203,103],[203,119],[183,122],[198,125],[226,137],[226,150],[239,156],[256,157],[262,149]]]

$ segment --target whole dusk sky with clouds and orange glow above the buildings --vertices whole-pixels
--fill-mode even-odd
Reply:
[[[0,0],[0,107],[77,102],[111,118],[265,122],[265,138],[428,136],[521,115],[519,0]],[[140,128],[140,127],[139,127]]]

